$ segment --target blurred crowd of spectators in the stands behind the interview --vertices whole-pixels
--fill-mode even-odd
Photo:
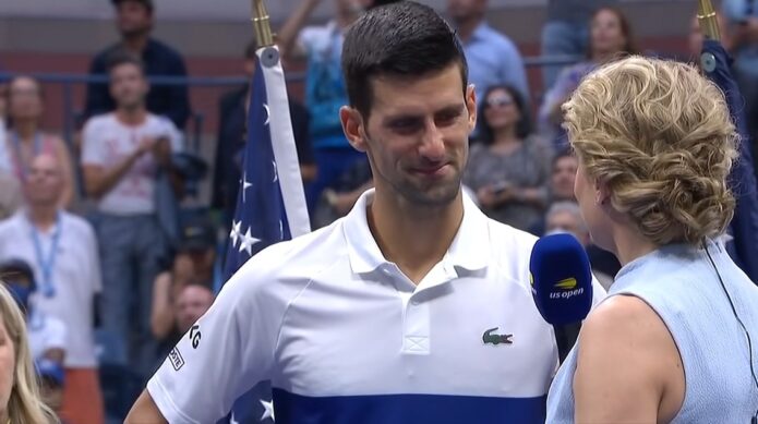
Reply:
[[[347,214],[371,187],[370,158],[348,144],[338,110],[347,102],[345,31],[376,5],[334,0],[333,20],[305,26],[320,1],[301,1],[277,31],[282,58],[305,63],[303,102],[290,96],[290,116],[314,228]],[[152,0],[112,3],[121,39],[92,60],[89,73],[108,82],[88,85],[75,141],[41,126],[38,81],[20,75],[0,88],[0,277],[25,311],[46,399],[71,423],[123,419],[145,378],[213,303],[245,143],[250,93],[240,86],[219,99],[207,208],[218,214],[178,214],[193,174],[187,168],[203,165],[183,137],[188,87],[151,86],[148,77],[187,76],[187,66],[178,49],[152,36]],[[447,1],[480,101],[468,195],[490,217],[536,235],[576,235],[605,286],[618,264],[592,245],[581,220],[577,161],[560,124],[561,105],[587,73],[639,52],[616,3],[549,1],[542,54],[579,59],[544,66],[545,92],[537,94],[515,43],[486,22],[488,1]],[[756,124],[758,7],[745,3],[754,2],[723,2],[725,43]],[[695,22],[694,53],[700,43]],[[248,77],[255,51],[251,43],[240,60]],[[85,213],[75,215],[82,204]]]

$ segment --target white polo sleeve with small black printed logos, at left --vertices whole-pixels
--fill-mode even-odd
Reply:
[[[168,422],[216,422],[231,410],[234,400],[270,378],[287,302],[266,294],[277,281],[262,269],[263,264],[279,261],[265,253],[250,259],[226,283],[213,306],[147,383],[151,397]]]

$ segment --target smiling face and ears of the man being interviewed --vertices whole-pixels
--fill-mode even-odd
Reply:
[[[357,118],[360,136],[352,142],[369,156],[377,193],[418,206],[453,202],[477,120],[473,88],[464,95],[459,65],[414,78],[376,77],[371,84],[371,114],[368,121]]]

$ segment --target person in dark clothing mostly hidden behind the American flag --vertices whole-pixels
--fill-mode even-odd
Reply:
[[[252,41],[244,50],[244,73],[249,78],[255,73],[257,45]],[[214,182],[212,205],[224,210],[225,225],[231,225],[231,218],[237,207],[237,194],[242,178],[242,152],[245,144],[245,126],[248,113],[245,104],[250,86],[245,84],[232,92],[226,93],[219,101],[218,138],[216,159],[214,160]],[[311,150],[309,134],[310,114],[308,109],[289,96],[289,114],[292,121],[294,144],[300,161],[300,173],[303,182],[313,181],[316,167]]]

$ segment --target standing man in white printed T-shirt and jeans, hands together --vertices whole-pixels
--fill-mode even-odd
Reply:
[[[103,311],[108,312],[103,325],[131,348],[132,367],[147,373],[156,352],[149,331],[153,281],[168,251],[156,209],[157,179],[159,172],[171,172],[171,153],[182,142],[171,121],[145,109],[148,86],[139,59],[118,58],[109,75],[117,108],[84,126],[84,186],[97,201]]]

